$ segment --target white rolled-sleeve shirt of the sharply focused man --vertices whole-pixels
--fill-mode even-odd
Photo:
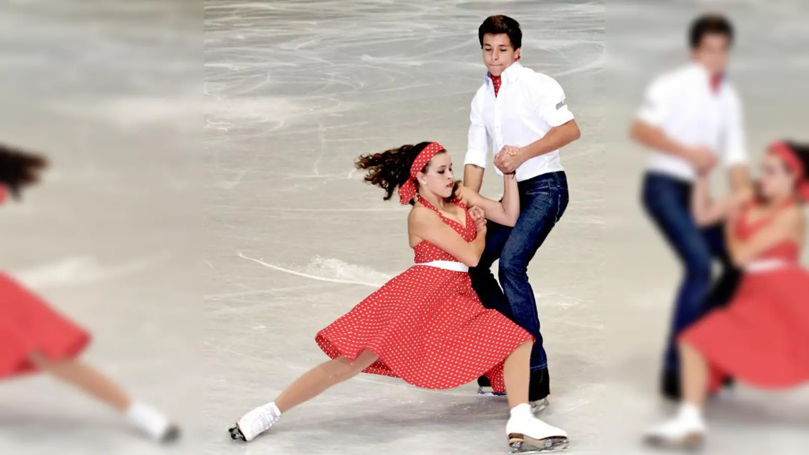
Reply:
[[[464,164],[486,168],[489,148],[492,158],[502,147],[525,147],[542,138],[554,126],[573,120],[565,91],[548,75],[513,63],[502,72],[498,96],[486,73],[484,83],[472,99],[471,125]],[[495,168],[499,175],[502,172]],[[517,168],[517,181],[564,170],[559,151],[528,159]]]

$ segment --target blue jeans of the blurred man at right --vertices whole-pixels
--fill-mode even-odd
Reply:
[[[690,182],[654,172],[646,174],[642,189],[646,214],[685,270],[663,355],[663,369],[667,372],[677,372],[680,368],[677,336],[705,313],[731,300],[741,276],[727,253],[723,224],[699,228],[694,221],[690,208],[692,189]],[[722,274],[712,287],[715,259],[722,263]]]

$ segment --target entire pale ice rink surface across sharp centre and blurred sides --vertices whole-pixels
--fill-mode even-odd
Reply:
[[[88,361],[186,423],[192,442],[170,453],[506,452],[505,400],[366,375],[251,444],[227,437],[324,360],[317,330],[412,264],[407,209],[353,161],[436,140],[460,171],[487,15],[520,21],[523,64],[561,83],[582,129],[562,151],[570,206],[529,268],[552,375],[541,417],[570,433],[567,453],[643,453],[667,412],[656,375],[680,272],[638,206],[643,151],[625,137],[650,78],[687,56],[688,19],[737,23],[754,159],[809,139],[797,1],[222,0],[204,19],[188,2],[112,5],[2,4],[2,140],[53,169],[2,208],[0,266],[91,330]],[[501,189],[489,168],[483,193]],[[710,406],[709,453],[803,453],[807,409],[805,389],[741,388]],[[49,378],[0,384],[0,453],[54,450],[159,453]]]

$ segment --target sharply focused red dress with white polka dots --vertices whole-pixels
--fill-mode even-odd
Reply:
[[[444,217],[464,240],[477,229],[466,215],[465,226]],[[461,208],[465,207],[457,202]],[[488,376],[493,389],[505,391],[503,362],[531,334],[496,310],[486,309],[472,290],[466,272],[423,266],[433,261],[458,262],[429,242],[416,245],[416,265],[385,283],[345,316],[316,336],[334,359],[356,359],[362,351],[379,356],[364,372],[400,377],[426,389],[451,389]]]

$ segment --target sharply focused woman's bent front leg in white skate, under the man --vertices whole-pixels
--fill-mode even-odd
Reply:
[[[537,419],[528,402],[531,349],[532,342],[524,342],[508,356],[503,365],[503,381],[511,408],[511,417],[506,424],[509,444],[523,449],[565,449],[568,445],[567,433]]]

